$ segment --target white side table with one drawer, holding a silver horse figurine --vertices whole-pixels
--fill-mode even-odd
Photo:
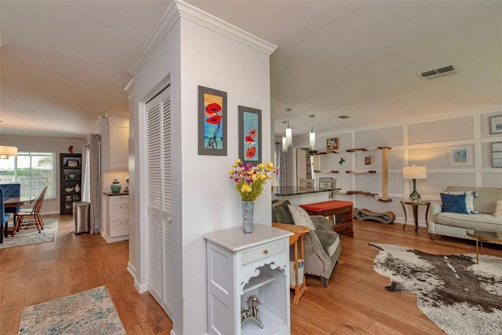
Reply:
[[[207,240],[209,334],[289,334],[289,236],[293,233],[254,225],[204,235]],[[255,322],[241,327],[240,307],[256,294],[264,328]]]

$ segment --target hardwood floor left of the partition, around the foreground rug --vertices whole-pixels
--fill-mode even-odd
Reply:
[[[54,242],[0,249],[0,334],[17,334],[25,306],[106,285],[128,334],[167,335],[172,322],[150,293],[139,294],[126,270],[128,241],[72,232],[59,217]]]

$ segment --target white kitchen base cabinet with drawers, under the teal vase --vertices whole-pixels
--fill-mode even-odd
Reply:
[[[101,235],[106,242],[129,240],[129,194],[103,192],[102,217]]]

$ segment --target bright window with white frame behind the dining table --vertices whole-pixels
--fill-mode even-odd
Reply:
[[[21,196],[38,196],[47,186],[45,199],[56,198],[56,153],[18,152],[0,159],[0,184],[21,184]]]

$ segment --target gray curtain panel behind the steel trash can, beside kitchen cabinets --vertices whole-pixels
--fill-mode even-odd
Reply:
[[[99,134],[89,136],[90,233],[98,234],[101,227],[101,161]]]

